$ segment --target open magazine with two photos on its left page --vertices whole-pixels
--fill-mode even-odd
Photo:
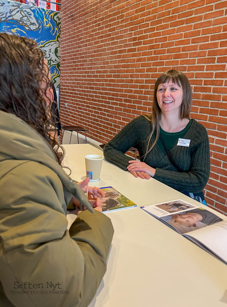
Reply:
[[[141,207],[227,264],[227,219],[184,200]]]

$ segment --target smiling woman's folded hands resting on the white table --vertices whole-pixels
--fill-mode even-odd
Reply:
[[[127,169],[133,174],[134,177],[140,177],[142,179],[154,177],[156,170],[146,163],[136,160],[128,161],[128,163],[130,163],[130,165],[128,165]]]

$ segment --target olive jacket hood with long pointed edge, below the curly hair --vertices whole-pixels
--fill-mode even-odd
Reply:
[[[22,119],[0,111],[0,163],[9,159],[36,161],[51,168],[57,173],[66,190],[93,212],[85,193],[58,164],[48,142]]]

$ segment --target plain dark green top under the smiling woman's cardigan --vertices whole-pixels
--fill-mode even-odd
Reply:
[[[192,122],[192,120],[190,119],[187,126],[179,132],[166,132],[166,131],[162,130],[162,128],[160,126],[160,135],[163,139],[163,142],[164,142],[167,150],[171,150],[173,148],[173,146],[175,146],[178,143],[178,139],[183,138],[184,134],[187,132],[187,130],[191,126],[191,122]],[[158,144],[158,147],[161,149],[162,153],[165,154],[165,149],[162,146],[160,138],[158,138],[157,144]]]

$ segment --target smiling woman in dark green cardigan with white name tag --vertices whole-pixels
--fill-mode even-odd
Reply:
[[[192,93],[187,77],[168,70],[154,86],[151,115],[132,120],[105,147],[104,157],[134,177],[153,177],[206,204],[202,189],[210,174],[206,129],[190,119]],[[135,147],[141,161],[125,152]]]

